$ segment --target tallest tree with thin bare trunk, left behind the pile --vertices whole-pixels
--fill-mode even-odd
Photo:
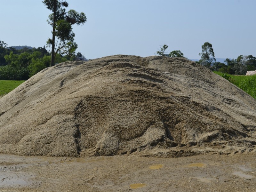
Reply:
[[[68,7],[68,3],[63,0],[44,0],[42,1],[47,9],[52,11],[49,15],[48,24],[52,26],[52,39],[48,39],[47,45],[52,46],[51,66],[54,66],[55,57],[58,52],[73,56],[77,49],[74,41],[75,33],[72,32],[72,25],[83,25],[86,16],[83,12],[75,10],[66,11],[63,7]],[[55,41],[57,37],[57,41]]]

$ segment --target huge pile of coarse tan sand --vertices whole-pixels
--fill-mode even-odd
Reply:
[[[186,59],[115,55],[44,69],[0,99],[0,153],[255,151],[256,100]]]

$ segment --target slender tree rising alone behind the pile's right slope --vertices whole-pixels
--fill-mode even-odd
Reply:
[[[206,67],[210,67],[212,63],[216,61],[212,44],[210,44],[209,42],[205,42],[202,45],[202,52],[199,53],[199,55],[201,55],[200,63]]]

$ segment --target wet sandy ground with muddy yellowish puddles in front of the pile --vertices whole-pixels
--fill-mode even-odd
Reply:
[[[256,155],[90,158],[0,155],[0,192],[256,191]]]

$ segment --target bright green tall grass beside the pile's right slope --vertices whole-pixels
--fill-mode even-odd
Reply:
[[[256,75],[225,75],[218,71],[214,71],[214,73],[228,79],[231,83],[235,84],[237,87],[244,90],[244,92],[247,92],[254,99],[256,99]]]

